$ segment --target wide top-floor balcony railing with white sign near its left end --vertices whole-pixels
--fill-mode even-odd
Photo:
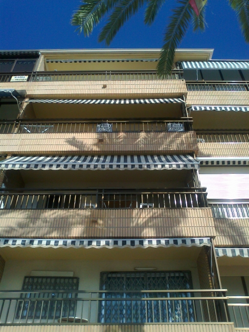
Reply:
[[[161,80],[155,70],[103,70],[99,72],[5,73],[0,75],[0,83],[10,82],[12,76],[19,75],[27,75],[28,82]],[[173,69],[172,73],[167,75],[165,79],[183,79],[183,70]]]

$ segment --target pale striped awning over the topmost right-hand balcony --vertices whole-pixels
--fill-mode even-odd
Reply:
[[[249,69],[249,61],[183,61],[183,69]]]

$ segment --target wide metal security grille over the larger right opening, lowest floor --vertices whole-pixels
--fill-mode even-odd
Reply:
[[[160,293],[140,291],[192,289],[189,271],[102,272],[100,289],[117,291],[102,293],[99,305],[101,323],[193,322],[193,300],[173,301],[172,297],[190,297],[190,292]],[[115,300],[117,298],[117,300]],[[125,301],[120,298],[126,298]],[[127,300],[132,298],[132,300]],[[138,300],[134,300],[138,298]],[[143,298],[153,298],[143,300]],[[165,298],[156,300],[155,298]]]

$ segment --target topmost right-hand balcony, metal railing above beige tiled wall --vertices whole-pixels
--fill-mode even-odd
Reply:
[[[187,82],[188,105],[248,105],[248,82]]]

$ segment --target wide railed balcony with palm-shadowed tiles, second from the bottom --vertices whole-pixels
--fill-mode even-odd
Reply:
[[[214,220],[206,194],[203,188],[8,190],[1,195],[0,235],[40,239],[213,237]]]

